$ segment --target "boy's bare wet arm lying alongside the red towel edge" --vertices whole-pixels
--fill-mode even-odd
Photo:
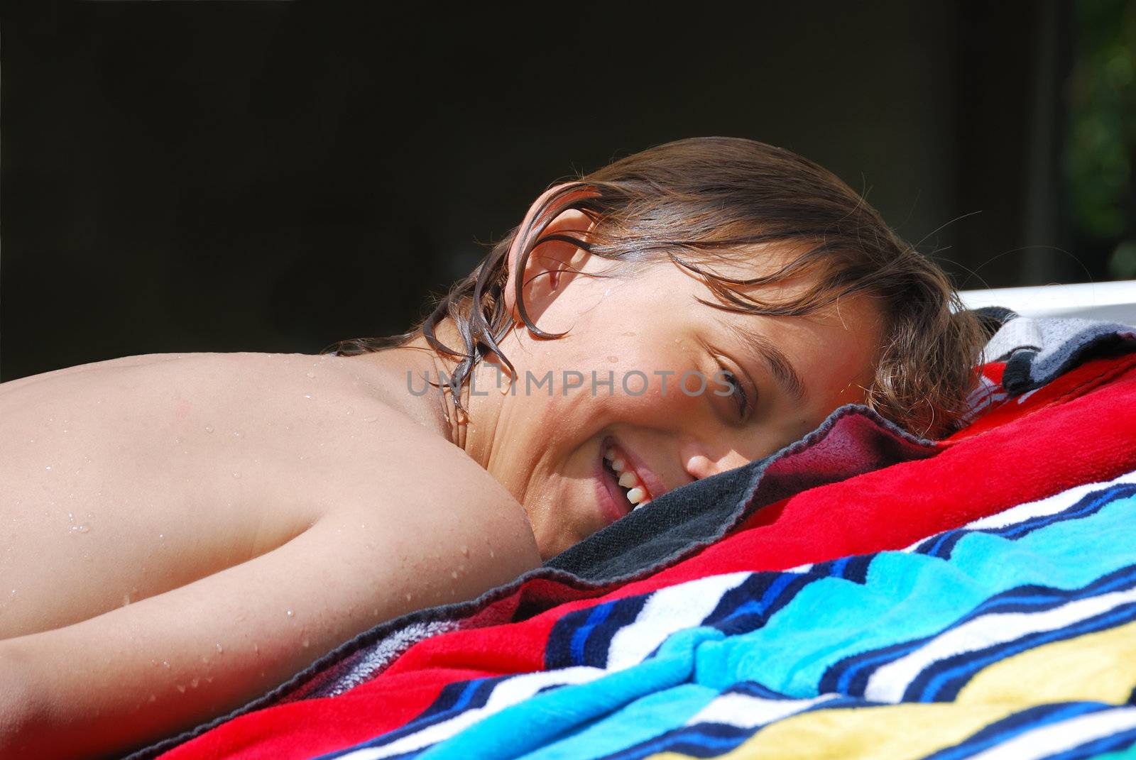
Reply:
[[[381,620],[507,583],[540,558],[501,493],[467,490],[454,511],[434,490],[393,520],[334,511],[242,565],[0,641],[0,757],[144,745],[247,703]]]

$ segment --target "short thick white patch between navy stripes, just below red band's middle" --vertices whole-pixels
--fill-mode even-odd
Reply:
[[[752,573],[711,575],[651,594],[635,621],[611,637],[608,669],[621,670],[642,662],[670,634],[698,626],[713,612],[730,588],[741,585]]]

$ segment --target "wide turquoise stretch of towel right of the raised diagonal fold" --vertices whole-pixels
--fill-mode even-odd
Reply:
[[[765,627],[702,646],[698,682],[726,688],[755,680],[794,698],[816,696],[820,677],[841,659],[934,635],[996,593],[1030,583],[1074,588],[1131,563],[1134,551],[1117,536],[1129,533],[1134,509],[1136,498],[1117,500],[1017,541],[968,534],[950,560],[885,552],[863,585],[809,584]]]

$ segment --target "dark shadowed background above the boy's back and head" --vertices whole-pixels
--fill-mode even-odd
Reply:
[[[329,5],[5,6],[0,379],[402,332],[553,181],[696,135],[827,166],[964,289],[1130,276],[1130,173],[1084,191],[1093,119],[1133,158],[1129,0]]]

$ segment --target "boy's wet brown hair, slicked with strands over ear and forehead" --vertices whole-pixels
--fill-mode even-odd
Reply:
[[[557,187],[554,183],[551,187]],[[440,356],[458,360],[460,389],[478,361],[494,353],[512,371],[499,342],[513,326],[506,308],[509,252],[525,270],[529,254],[550,240],[632,264],[670,261],[702,279],[704,301],[743,314],[799,317],[841,299],[867,294],[883,316],[882,345],[866,403],[901,427],[942,436],[960,425],[984,342],[977,318],[961,307],[947,275],[903,242],[864,199],[834,174],[788,150],[737,137],[679,140],[619,159],[546,192],[525,223],[493,244],[467,277],[438,299],[411,332],[341,341],[325,351],[351,356],[400,345],[421,334]],[[586,235],[541,233],[561,212],[577,209]],[[754,260],[770,247],[792,252],[777,270],[751,278],[715,272],[715,262]],[[807,291],[782,300],[753,295],[753,286],[811,276]],[[528,331],[523,278],[516,303]],[[768,289],[767,289],[768,290]],[[701,299],[700,299],[701,300]],[[460,346],[443,344],[435,328],[452,320]],[[460,408],[460,399],[454,398]]]

